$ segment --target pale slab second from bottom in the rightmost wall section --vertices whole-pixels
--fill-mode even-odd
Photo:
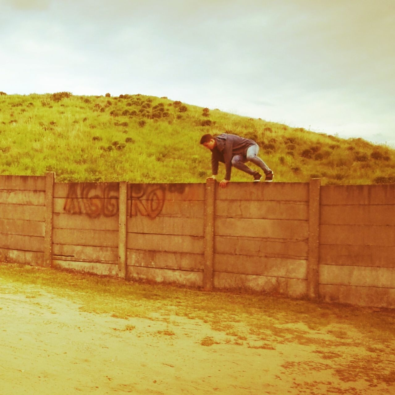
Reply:
[[[395,289],[395,268],[320,265],[319,283]]]

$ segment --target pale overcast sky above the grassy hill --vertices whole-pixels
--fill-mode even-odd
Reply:
[[[395,0],[0,0],[0,90],[141,93],[395,147]]]

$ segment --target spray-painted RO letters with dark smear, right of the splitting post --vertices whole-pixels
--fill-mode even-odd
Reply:
[[[185,184],[149,185],[130,184],[130,217],[136,215],[156,218],[162,211],[166,191],[183,194]]]

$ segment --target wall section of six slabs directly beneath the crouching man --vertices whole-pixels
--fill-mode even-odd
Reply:
[[[214,286],[306,294],[308,184],[229,184],[215,199]]]

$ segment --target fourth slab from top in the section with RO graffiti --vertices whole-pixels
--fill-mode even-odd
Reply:
[[[191,252],[203,254],[203,237],[181,235],[146,235],[127,233],[127,248],[134,250]]]

